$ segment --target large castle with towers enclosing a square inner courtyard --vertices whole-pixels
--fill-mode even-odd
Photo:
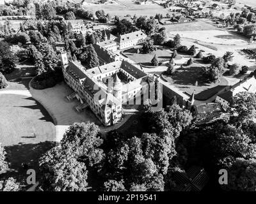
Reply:
[[[89,106],[104,126],[116,124],[122,118],[122,104],[141,96],[147,84],[148,75],[124,60],[86,69],[62,52],[61,62],[65,82],[74,90],[67,98],[80,101],[78,112]]]

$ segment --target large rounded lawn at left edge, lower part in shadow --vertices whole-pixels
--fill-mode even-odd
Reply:
[[[13,176],[23,183],[27,175],[21,164],[26,163],[35,169],[38,180],[38,158],[51,149],[56,139],[52,118],[28,96],[1,94],[0,104],[0,115],[4,115],[0,117],[0,143],[6,148],[10,168],[14,170],[1,177]]]

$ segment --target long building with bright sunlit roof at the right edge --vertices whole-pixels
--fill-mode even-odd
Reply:
[[[215,102],[220,103],[223,109],[227,110],[230,106],[232,98],[236,96],[237,93],[244,91],[253,93],[256,92],[256,79],[254,77],[246,78],[230,87],[226,87],[224,89],[224,92],[218,94],[218,96],[215,99]]]

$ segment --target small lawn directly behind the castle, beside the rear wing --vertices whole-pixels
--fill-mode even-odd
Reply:
[[[172,57],[172,52],[170,50],[166,50],[162,47],[158,47],[156,51],[151,52],[150,54],[143,54],[141,51],[141,47],[142,46],[137,46],[135,48],[129,48],[128,50],[124,50],[123,53],[125,55],[127,55],[127,57],[129,57],[129,59],[131,59],[132,61],[134,61],[136,63],[141,63],[145,66],[152,66],[151,60],[155,54],[157,55],[159,61],[164,60],[164,59],[166,59],[166,61],[168,61],[170,59],[170,57]],[[137,48],[140,48],[141,53],[137,54]]]

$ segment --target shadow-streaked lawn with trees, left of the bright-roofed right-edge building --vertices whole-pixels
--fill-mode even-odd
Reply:
[[[176,72],[171,77],[165,75],[163,77],[168,80],[170,84],[179,88],[180,91],[191,95],[195,90],[195,99],[206,100],[228,85],[228,80],[226,77],[221,77],[220,82],[211,84],[205,83],[200,77],[202,68],[202,65],[194,63],[191,66],[176,69]],[[196,81],[198,82],[197,86]]]

